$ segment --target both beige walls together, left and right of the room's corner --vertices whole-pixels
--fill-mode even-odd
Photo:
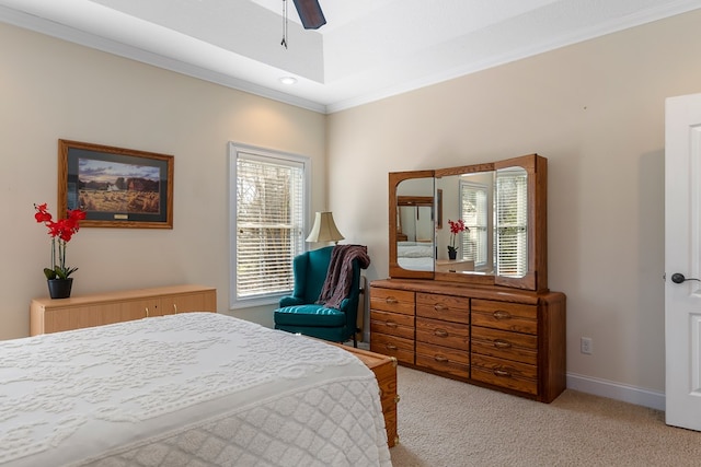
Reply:
[[[388,172],[538,152],[568,373],[664,392],[664,102],[701,92],[700,24],[687,13],[327,118],[0,25],[0,339],[26,336],[28,302],[46,294],[32,205],[55,208],[59,138],[175,155],[175,227],[81,230],[76,293],[204,283],[220,312],[228,141],[312,157],[313,209],[368,245],[370,280],[388,273]],[[232,314],[272,322],[269,308]]]

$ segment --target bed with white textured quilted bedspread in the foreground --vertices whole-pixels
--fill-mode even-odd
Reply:
[[[391,466],[352,353],[216,313],[0,342],[0,465]]]

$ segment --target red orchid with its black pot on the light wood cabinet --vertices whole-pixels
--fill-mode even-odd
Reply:
[[[49,268],[44,268],[44,276],[48,282],[48,291],[51,299],[67,299],[73,284],[70,277],[78,268],[66,266],[66,249],[68,242],[80,229],[80,221],[85,219],[85,211],[69,209],[66,219],[54,221],[46,208],[46,203],[34,205],[36,222],[46,225],[51,237],[51,262]]]

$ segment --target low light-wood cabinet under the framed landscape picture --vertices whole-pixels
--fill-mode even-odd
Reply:
[[[34,299],[30,305],[30,335],[174,313],[216,311],[217,290],[203,285],[138,289],[60,300]]]

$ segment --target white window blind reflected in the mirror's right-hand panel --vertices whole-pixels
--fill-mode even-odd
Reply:
[[[497,275],[524,277],[528,272],[528,175],[525,171],[496,174]]]

